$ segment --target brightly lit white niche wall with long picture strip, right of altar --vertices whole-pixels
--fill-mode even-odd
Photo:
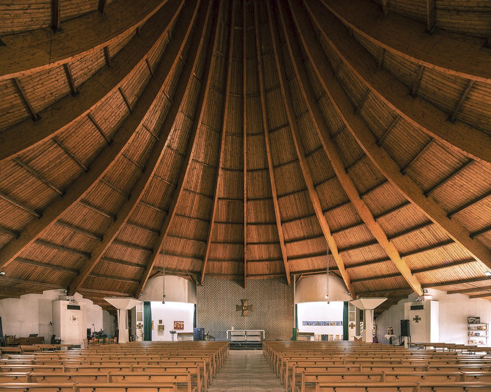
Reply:
[[[314,332],[316,335],[340,335],[343,339],[343,326],[304,326],[303,321],[343,321],[343,306],[341,301],[304,302],[297,305],[298,330]]]

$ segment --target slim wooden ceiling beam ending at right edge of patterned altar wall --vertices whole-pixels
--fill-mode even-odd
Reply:
[[[271,156],[271,140],[270,140],[270,131],[268,129],[269,127],[267,122],[267,108],[266,108],[266,95],[265,95],[266,92],[265,92],[264,79],[263,79],[263,65],[262,65],[263,54],[261,53],[259,28],[260,26],[259,26],[258,4],[257,4],[257,0],[254,0],[254,29],[256,32],[255,36],[256,36],[257,71],[258,71],[258,78],[259,78],[259,91],[261,97],[262,127],[264,130],[267,168],[270,176],[271,193],[273,195],[273,208],[275,210],[276,227],[278,229],[281,257],[283,259],[283,266],[285,268],[286,281],[288,282],[288,284],[290,284],[291,283],[290,268],[288,266],[288,258],[287,258],[286,247],[285,247],[285,236],[283,233],[283,227],[281,226],[280,207],[278,204],[278,191],[276,188],[273,158]]]

